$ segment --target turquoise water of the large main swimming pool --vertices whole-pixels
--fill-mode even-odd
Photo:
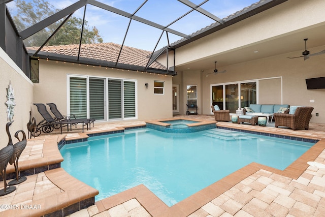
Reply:
[[[280,170],[313,143],[221,129],[173,134],[148,128],[64,145],[61,167],[101,200],[143,183],[168,206],[256,162]]]

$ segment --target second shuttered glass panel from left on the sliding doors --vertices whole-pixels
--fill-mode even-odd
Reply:
[[[89,78],[89,115],[96,120],[105,119],[104,79]]]

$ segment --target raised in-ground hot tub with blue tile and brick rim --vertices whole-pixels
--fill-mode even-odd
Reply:
[[[166,133],[193,133],[216,128],[216,121],[189,118],[170,118],[146,121],[147,128]]]

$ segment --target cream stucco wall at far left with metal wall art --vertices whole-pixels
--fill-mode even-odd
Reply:
[[[14,109],[14,122],[10,127],[11,137],[13,142],[18,140],[14,134],[18,130],[23,130],[27,136],[26,124],[29,121],[29,108],[32,102],[32,89],[33,84],[27,76],[19,69],[19,67],[10,59],[10,57],[0,48],[0,68],[1,68],[1,103],[0,103],[0,138],[2,142],[0,148],[8,144],[8,136],[6,133],[7,120],[7,89],[9,82],[14,89],[15,96],[15,109]]]

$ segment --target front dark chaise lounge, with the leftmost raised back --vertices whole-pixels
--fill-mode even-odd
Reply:
[[[61,134],[62,134],[62,126],[66,126],[66,125],[68,126],[68,132],[69,132],[69,125],[71,130],[71,126],[76,125],[77,123],[82,123],[82,132],[84,132],[85,125],[87,125],[87,130],[88,130],[88,124],[90,126],[90,120],[86,120],[86,119],[56,120],[50,115],[50,113],[47,111],[46,106],[44,104],[34,103],[34,105],[37,106],[37,110],[40,112],[40,114],[44,119],[41,120],[36,126],[36,132],[39,132],[39,134],[33,136],[39,136],[41,134],[41,131],[43,133],[50,133],[54,130],[54,128],[61,129]]]

